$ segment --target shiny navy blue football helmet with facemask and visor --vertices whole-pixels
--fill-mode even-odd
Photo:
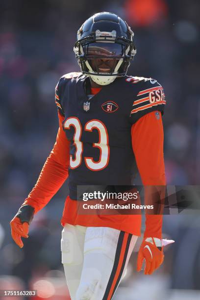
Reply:
[[[77,32],[74,51],[81,72],[100,84],[107,85],[125,76],[130,60],[136,54],[134,33],[120,17],[100,12],[86,20]],[[100,72],[97,61],[114,60],[109,72]]]

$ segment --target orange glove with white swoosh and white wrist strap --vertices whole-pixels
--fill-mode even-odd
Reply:
[[[145,259],[145,275],[152,274],[160,267],[164,260],[163,247],[174,243],[173,240],[160,240],[158,238],[144,238],[137,259],[137,271],[142,269],[143,260]]]

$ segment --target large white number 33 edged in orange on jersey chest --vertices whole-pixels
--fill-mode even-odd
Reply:
[[[82,161],[83,143],[80,141],[82,127],[80,121],[75,117],[68,118],[64,123],[65,129],[70,129],[70,126],[75,128],[75,134],[73,137],[74,145],[76,148],[75,159],[70,155],[70,167],[75,169],[80,166]],[[100,149],[100,158],[98,161],[94,161],[93,157],[85,157],[84,161],[88,169],[92,171],[100,171],[104,169],[109,162],[110,149],[108,145],[108,133],[105,125],[100,120],[91,120],[85,124],[85,131],[92,132],[93,129],[97,129],[99,132],[99,142],[93,143],[93,147]]]

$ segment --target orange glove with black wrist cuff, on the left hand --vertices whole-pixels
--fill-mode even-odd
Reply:
[[[11,235],[15,243],[23,248],[21,237],[28,238],[29,224],[33,219],[34,208],[30,205],[20,207],[16,216],[10,222]]]

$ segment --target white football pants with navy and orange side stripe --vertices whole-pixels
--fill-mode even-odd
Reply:
[[[66,224],[61,251],[71,299],[112,299],[137,238],[110,227]]]

